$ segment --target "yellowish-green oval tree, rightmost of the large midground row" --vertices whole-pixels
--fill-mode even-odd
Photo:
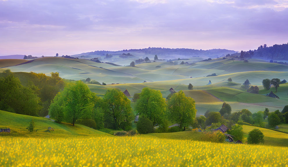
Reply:
[[[179,128],[184,130],[192,124],[196,116],[195,101],[191,97],[186,97],[180,90],[174,93],[168,101],[169,118],[173,123],[178,124]]]

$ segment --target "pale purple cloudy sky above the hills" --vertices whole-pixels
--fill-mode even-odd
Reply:
[[[288,42],[288,0],[0,0],[0,56]]]

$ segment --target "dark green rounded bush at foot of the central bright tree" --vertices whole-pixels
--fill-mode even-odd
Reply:
[[[145,116],[139,116],[136,128],[140,134],[147,134],[154,132],[153,122],[150,121],[150,119],[148,119]]]

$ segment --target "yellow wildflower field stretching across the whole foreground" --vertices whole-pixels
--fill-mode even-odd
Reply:
[[[284,166],[288,148],[133,137],[0,138],[0,166]]]

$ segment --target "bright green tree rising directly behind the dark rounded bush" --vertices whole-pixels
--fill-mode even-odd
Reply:
[[[159,90],[143,88],[136,103],[136,111],[153,122],[161,125],[166,119],[166,102]]]

